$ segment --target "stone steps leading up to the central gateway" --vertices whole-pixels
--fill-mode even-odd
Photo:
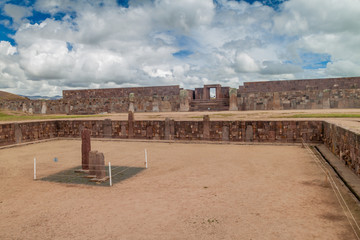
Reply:
[[[190,102],[190,111],[228,111],[229,99],[193,99]]]

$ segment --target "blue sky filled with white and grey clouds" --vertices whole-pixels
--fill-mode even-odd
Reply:
[[[0,0],[0,90],[360,76],[360,0]]]

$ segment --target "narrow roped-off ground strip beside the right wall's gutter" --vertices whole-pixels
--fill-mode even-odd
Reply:
[[[312,159],[314,160],[314,162],[316,163],[316,165],[324,172],[324,174],[326,175],[326,179],[329,181],[331,188],[336,196],[336,199],[338,200],[352,230],[354,231],[354,234],[356,236],[356,238],[358,240],[360,240],[359,235],[357,234],[357,231],[355,229],[355,227],[357,228],[357,230],[360,232],[360,227],[357,223],[357,221],[354,218],[354,215],[351,213],[349,206],[347,205],[340,189],[338,188],[334,178],[332,177],[330,171],[328,170],[328,168],[326,167],[326,165],[315,155],[315,153],[310,149],[309,145],[304,141],[304,139],[302,140],[302,144],[303,146],[306,148],[306,150],[308,151],[308,153],[312,156]],[[351,223],[352,221],[355,223],[355,226]]]

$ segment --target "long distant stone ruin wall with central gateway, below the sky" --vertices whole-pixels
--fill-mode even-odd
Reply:
[[[245,82],[194,90],[175,86],[64,90],[61,100],[2,100],[0,108],[37,114],[360,108],[360,77]]]

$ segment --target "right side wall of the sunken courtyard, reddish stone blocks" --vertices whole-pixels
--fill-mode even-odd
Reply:
[[[360,175],[360,135],[332,123],[323,123],[324,144],[357,175]]]

